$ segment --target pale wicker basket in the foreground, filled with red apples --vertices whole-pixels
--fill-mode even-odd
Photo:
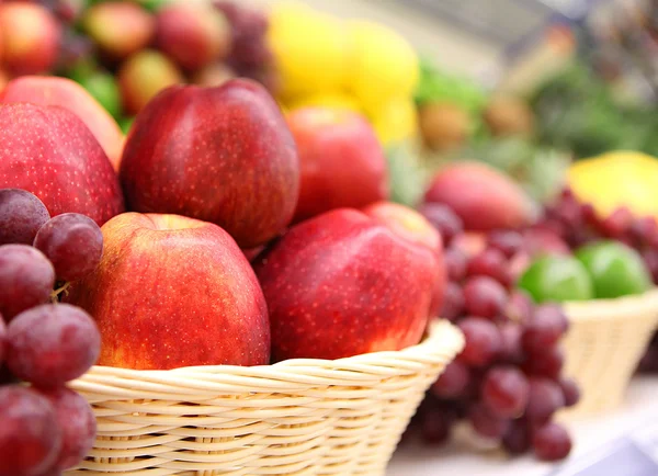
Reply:
[[[94,449],[67,475],[383,475],[427,388],[461,351],[445,321],[418,345],[336,361],[173,371],[93,367]]]

